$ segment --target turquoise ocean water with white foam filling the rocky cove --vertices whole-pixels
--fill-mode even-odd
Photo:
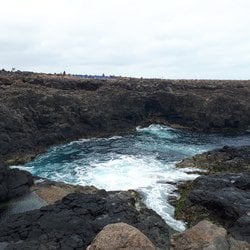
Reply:
[[[182,231],[185,223],[174,218],[174,207],[168,200],[177,195],[174,183],[198,175],[192,173],[194,169],[177,169],[175,164],[225,145],[250,145],[250,134],[208,135],[151,125],[126,136],[82,139],[52,147],[18,167],[51,180],[107,191],[138,190],[148,207]]]

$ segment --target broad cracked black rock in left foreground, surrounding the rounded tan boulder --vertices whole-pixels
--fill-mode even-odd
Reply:
[[[124,222],[159,249],[169,248],[171,229],[133,192],[69,194],[54,205],[13,215],[0,227],[6,249],[86,249],[103,227]]]

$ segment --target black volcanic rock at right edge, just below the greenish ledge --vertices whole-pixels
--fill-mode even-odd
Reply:
[[[249,185],[250,173],[199,177],[189,200],[211,210],[230,225],[250,211],[250,192],[241,181]]]

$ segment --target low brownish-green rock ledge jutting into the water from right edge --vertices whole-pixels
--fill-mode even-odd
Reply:
[[[250,146],[237,148],[225,146],[184,159],[177,164],[177,167],[205,169],[210,174],[250,171]]]

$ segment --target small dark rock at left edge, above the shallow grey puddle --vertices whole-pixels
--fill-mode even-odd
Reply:
[[[0,166],[0,203],[30,192],[32,184],[29,172]]]

